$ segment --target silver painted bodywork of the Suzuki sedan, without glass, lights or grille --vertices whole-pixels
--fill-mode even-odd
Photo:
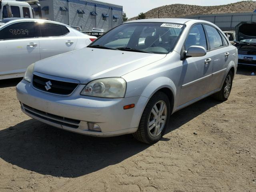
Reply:
[[[128,134],[137,130],[148,100],[161,88],[168,88],[172,92],[173,113],[218,92],[231,68],[234,68],[236,73],[238,54],[231,44],[210,50],[204,57],[180,60],[180,52],[190,27],[196,23],[211,24],[210,22],[187,19],[149,19],[133,22],[173,22],[186,24],[186,28],[174,51],[167,55],[136,52],[122,54],[122,51],[117,50],[84,48],[37,62],[35,65],[36,72],[52,75],[54,78],[58,76],[72,78],[81,83],[88,83],[95,78],[122,76],[127,82],[125,98],[104,99],[81,96],[80,91],[84,85],[80,85],[68,97],[35,90],[32,84],[25,80],[17,86],[17,97],[22,103],[59,116],[79,119],[83,122],[97,122],[102,132],[90,132],[84,126],[70,129],[32,117],[80,134],[94,136]],[[227,58],[224,55],[226,52],[229,52]],[[212,62],[207,66],[204,64],[206,58],[212,58]],[[87,64],[84,64],[85,62]],[[122,106],[130,103],[134,103],[136,107],[129,110],[122,109]],[[26,113],[23,106],[22,110]]]

